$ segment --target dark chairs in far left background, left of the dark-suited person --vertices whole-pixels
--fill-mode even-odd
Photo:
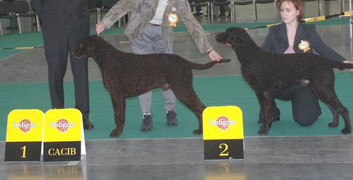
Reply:
[[[16,20],[18,23],[18,30],[22,34],[22,27],[20,23],[20,17],[30,17],[31,18],[31,29],[33,28],[33,18],[35,18],[37,23],[37,31],[40,32],[40,18],[37,13],[32,11],[30,3],[25,0],[8,0],[0,1],[0,19]],[[11,24],[11,23],[10,23]],[[14,30],[14,27],[12,27]],[[3,29],[0,21],[0,34],[3,35]]]

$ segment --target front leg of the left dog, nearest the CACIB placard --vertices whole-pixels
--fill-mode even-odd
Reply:
[[[110,136],[119,136],[124,129],[125,125],[125,108],[126,108],[126,102],[123,97],[118,97],[112,99],[113,102],[113,108],[114,108],[114,119],[115,119],[115,124],[116,128],[113,129],[112,133],[110,133]]]

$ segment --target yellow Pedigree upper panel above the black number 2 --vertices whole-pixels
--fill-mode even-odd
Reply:
[[[239,107],[208,107],[203,111],[204,140],[243,138],[243,115]]]

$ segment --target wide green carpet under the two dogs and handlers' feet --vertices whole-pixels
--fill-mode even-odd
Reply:
[[[258,136],[260,125],[258,120],[258,101],[241,76],[218,76],[194,78],[194,88],[198,97],[210,106],[236,105],[243,111],[245,136]],[[341,102],[353,109],[353,73],[336,73],[335,88]],[[73,83],[65,83],[66,107],[73,107]],[[153,91],[152,112],[153,131],[139,131],[141,123],[138,99],[127,100],[126,124],[124,132],[119,138],[197,138],[192,131],[197,128],[196,116],[177,103],[178,126],[165,124],[165,110],[160,90]],[[301,127],[292,119],[290,102],[277,101],[281,111],[281,120],[275,121],[269,136],[335,136],[340,135],[343,128],[342,118],[338,128],[328,128],[332,114],[321,104],[323,114],[315,124]],[[5,139],[7,115],[13,109],[41,109],[43,112],[50,108],[47,83],[2,83],[0,84],[0,141]],[[90,81],[90,119],[95,124],[95,130],[85,131],[87,139],[109,138],[114,128],[113,110],[110,97],[104,90],[102,81]]]

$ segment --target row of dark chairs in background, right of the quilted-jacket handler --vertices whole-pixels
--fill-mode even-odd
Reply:
[[[213,8],[214,6],[229,6],[231,9],[231,20],[235,21],[235,6],[244,6],[244,5],[253,5],[253,20],[258,20],[258,11],[257,11],[257,4],[273,4],[274,6],[274,13],[275,19],[278,20],[280,18],[280,12],[278,8],[278,3],[280,0],[191,0],[190,6],[191,7],[204,7],[207,6],[207,9],[210,10],[211,13],[208,13],[208,21],[213,22]],[[306,1],[318,1],[318,16],[323,15],[323,1],[324,0],[303,0]],[[335,1],[335,0],[325,0],[325,1]],[[345,1],[340,1],[340,8],[341,13],[345,11]]]

